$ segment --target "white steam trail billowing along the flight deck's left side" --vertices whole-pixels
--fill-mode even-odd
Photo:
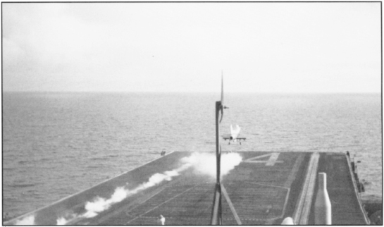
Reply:
[[[178,176],[180,172],[185,171],[187,168],[194,168],[194,173],[204,174],[211,177],[216,177],[216,154],[212,153],[199,153],[195,152],[190,157],[184,157],[181,160],[182,166],[175,168],[172,171],[165,171],[164,173],[155,173],[149,180],[133,190],[125,189],[124,187],[118,187],[113,192],[113,195],[109,199],[102,197],[96,197],[92,202],[86,202],[84,214],[73,215],[70,220],[61,217],[56,220],[58,225],[65,225],[68,221],[76,218],[92,218],[97,216],[102,211],[109,209],[112,204],[121,202],[130,195],[135,195],[137,192],[153,187],[163,182],[163,180],[172,180],[173,177]],[[229,173],[235,166],[239,165],[242,161],[242,157],[237,153],[229,153],[221,155],[221,176]]]

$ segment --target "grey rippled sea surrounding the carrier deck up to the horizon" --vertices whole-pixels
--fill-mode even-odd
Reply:
[[[3,211],[44,207],[159,157],[213,151],[219,94],[3,93]],[[346,152],[382,197],[380,94],[226,94],[223,150]]]

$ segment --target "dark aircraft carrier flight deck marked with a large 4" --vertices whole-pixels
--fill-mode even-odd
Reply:
[[[216,179],[192,167],[180,170],[180,159],[193,152],[172,152],[4,225],[209,225]],[[208,152],[207,152],[208,153]],[[214,153],[210,153],[214,155]],[[333,225],[364,225],[368,218],[354,179],[349,156],[342,153],[238,152],[239,165],[222,177],[224,225],[279,225],[290,216],[296,224],[314,225],[319,172],[327,174]],[[225,152],[223,152],[225,155]],[[212,164],[216,168],[216,163]],[[178,175],[172,174],[178,169]],[[166,180],[140,189],[156,173]],[[116,188],[131,195],[113,199]],[[143,187],[142,187],[143,188]],[[136,190],[135,190],[136,189]],[[134,193],[135,192],[135,193]],[[116,193],[115,193],[116,194]],[[87,202],[104,198],[109,205],[87,217]]]

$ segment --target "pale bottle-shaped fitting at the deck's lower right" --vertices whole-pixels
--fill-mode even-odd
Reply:
[[[318,191],[315,202],[315,225],[331,225],[332,211],[327,191],[327,173],[318,173]]]

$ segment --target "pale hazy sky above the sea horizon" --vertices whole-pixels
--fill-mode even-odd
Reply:
[[[3,3],[4,91],[380,92],[380,3]]]

